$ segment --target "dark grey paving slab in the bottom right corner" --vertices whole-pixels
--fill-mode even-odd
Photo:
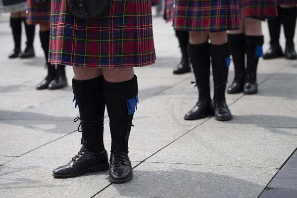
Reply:
[[[269,183],[259,198],[296,198],[297,197],[297,152]]]

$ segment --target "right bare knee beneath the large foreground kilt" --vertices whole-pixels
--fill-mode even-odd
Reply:
[[[111,83],[124,82],[134,77],[132,67],[125,68],[102,68],[104,79]]]

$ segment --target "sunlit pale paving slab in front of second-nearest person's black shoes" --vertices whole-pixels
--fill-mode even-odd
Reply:
[[[280,168],[295,150],[297,130],[204,123],[151,162]]]

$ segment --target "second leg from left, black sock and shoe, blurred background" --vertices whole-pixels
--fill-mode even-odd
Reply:
[[[25,24],[25,30],[26,30],[26,36],[27,36],[27,47],[24,50],[24,52],[20,54],[20,58],[35,57],[35,51],[33,48],[33,42],[35,37],[35,25],[27,25],[26,17],[23,17],[22,21]]]

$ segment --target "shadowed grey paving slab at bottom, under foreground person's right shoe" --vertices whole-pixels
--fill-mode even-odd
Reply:
[[[111,185],[96,198],[256,198],[277,170],[142,163],[134,179]]]

